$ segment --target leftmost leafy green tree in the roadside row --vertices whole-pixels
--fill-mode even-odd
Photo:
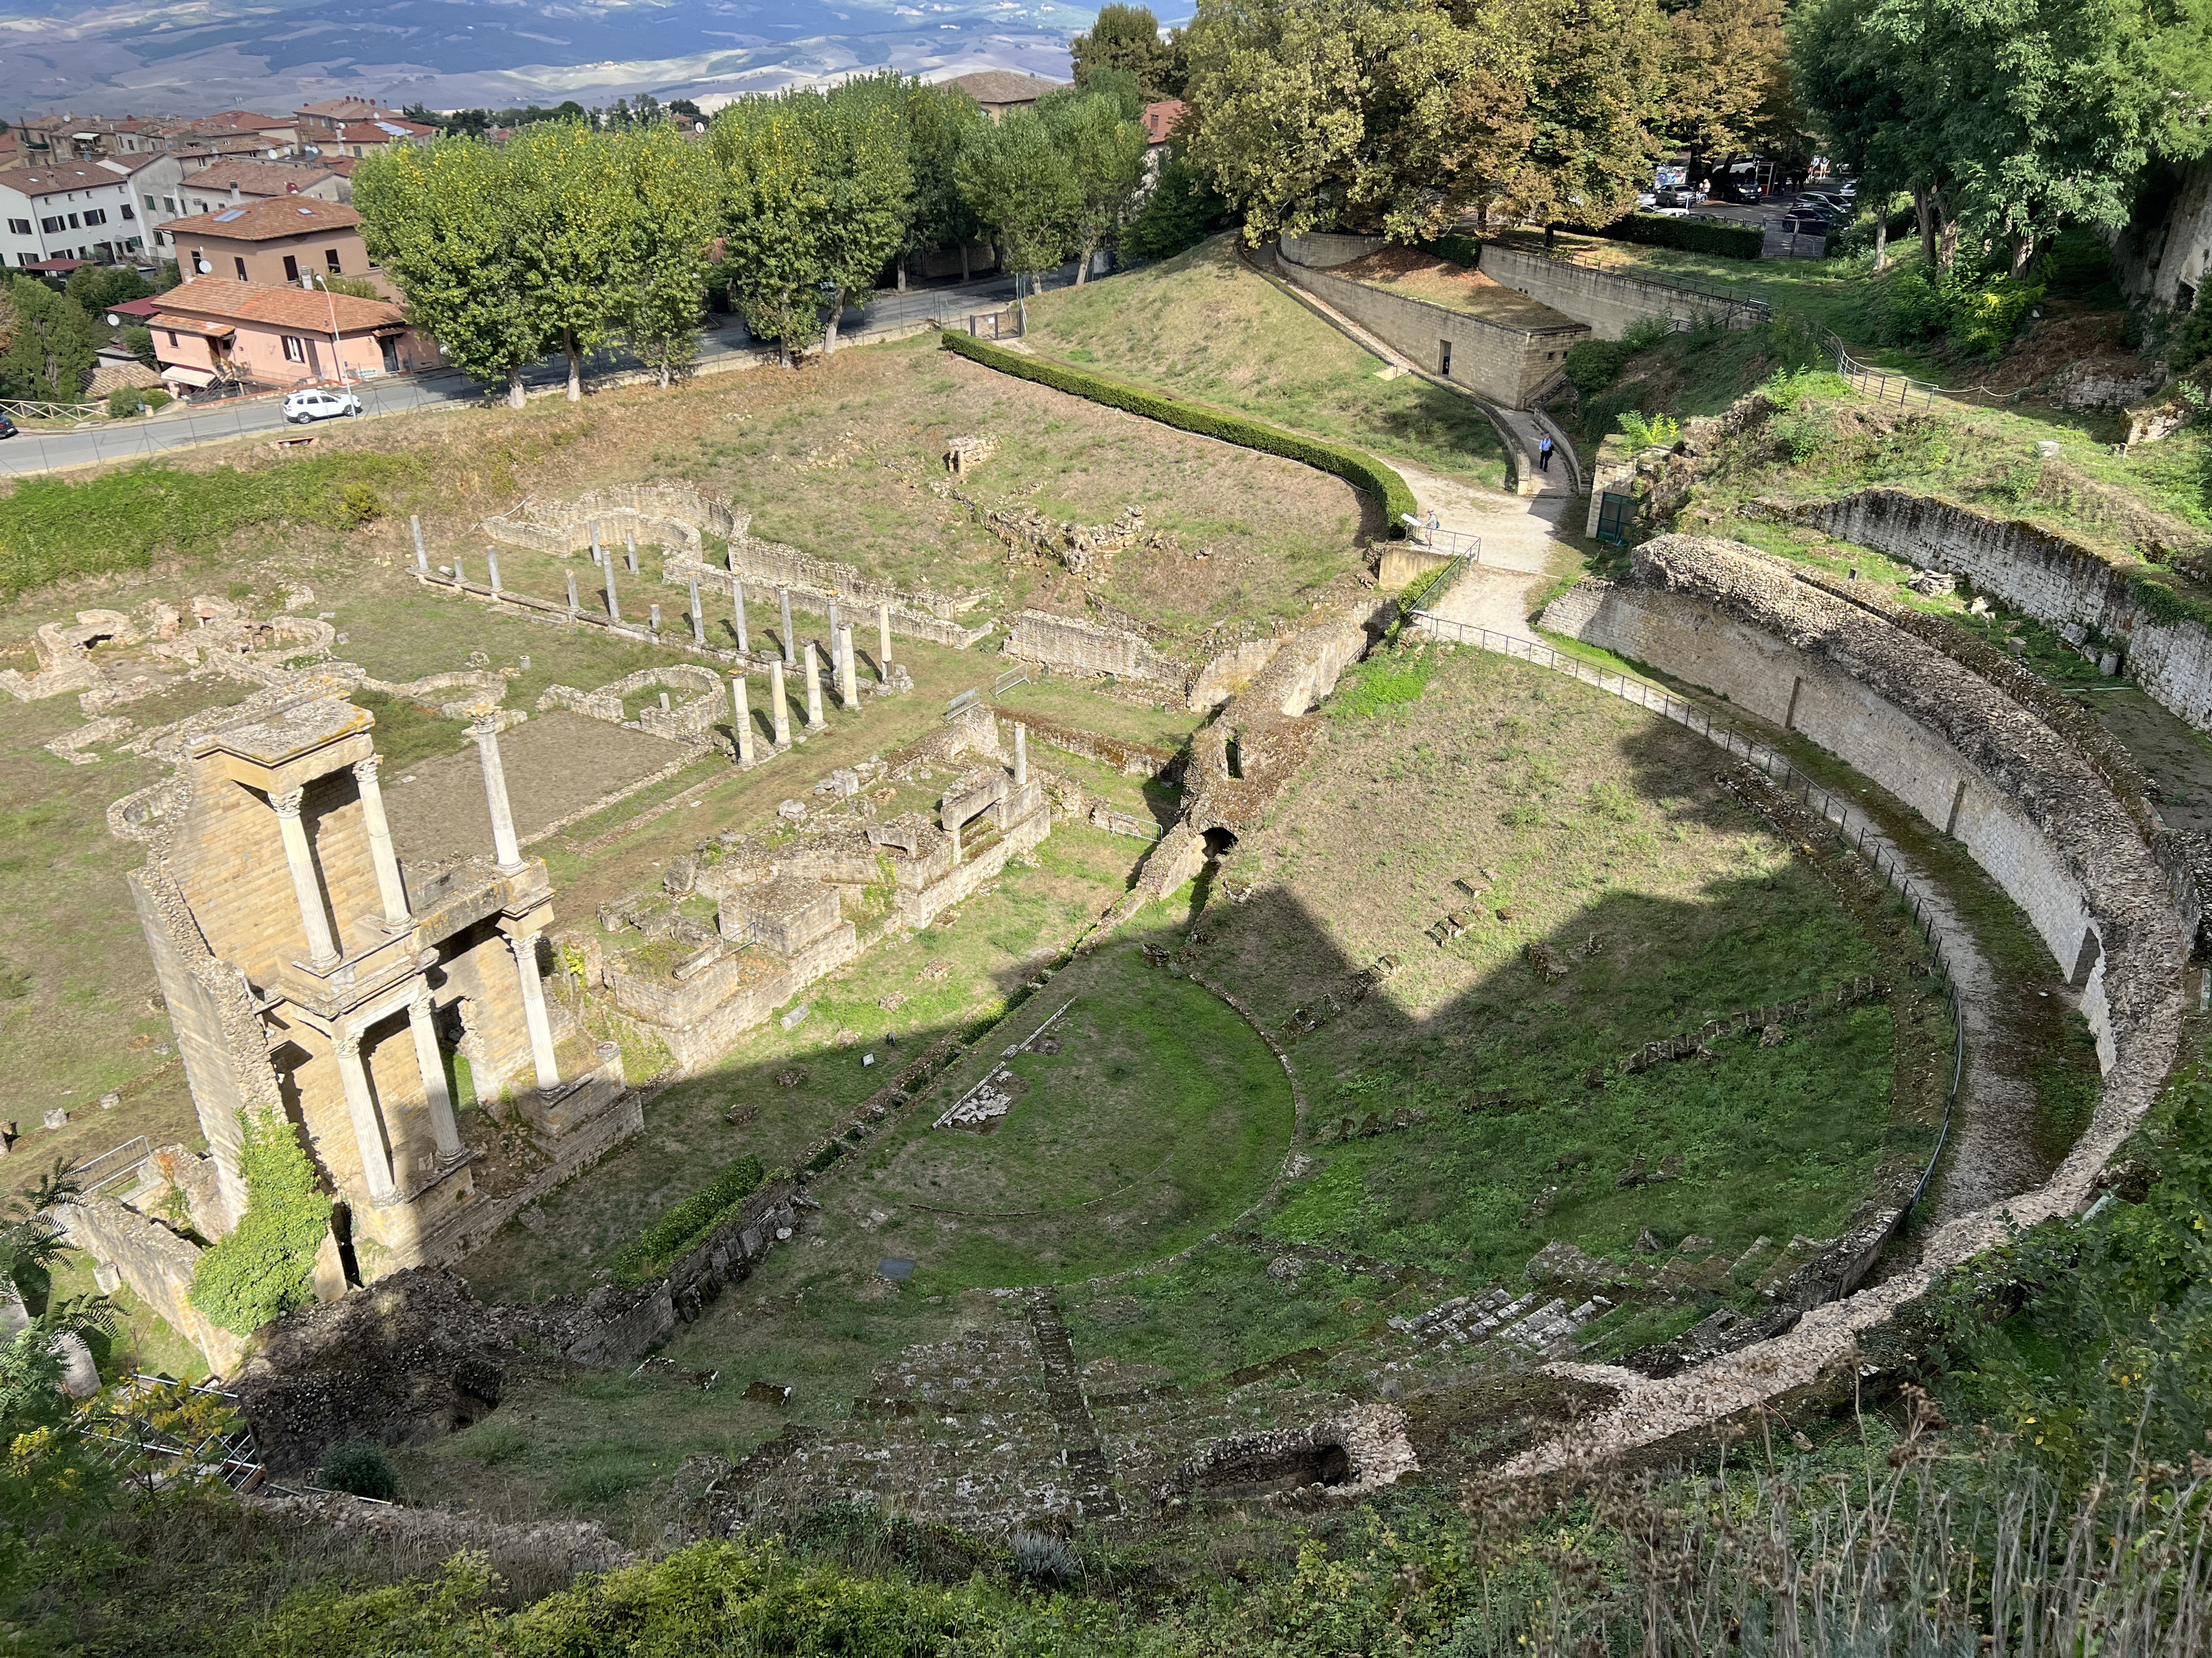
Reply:
[[[392,146],[363,159],[354,206],[369,256],[407,296],[407,321],[458,369],[507,380],[507,405],[520,409],[522,365],[553,336],[531,303],[533,256],[507,150],[469,137]]]

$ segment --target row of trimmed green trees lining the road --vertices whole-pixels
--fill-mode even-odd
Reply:
[[[1018,274],[1091,254],[1128,221],[1146,137],[1135,82],[1053,93],[991,122],[953,86],[869,75],[745,97],[703,141],[668,124],[544,122],[491,146],[440,137],[363,161],[372,256],[447,360],[507,385],[553,351],[622,340],[666,385],[710,292],[785,356],[836,347],[887,267],[989,239]]]

